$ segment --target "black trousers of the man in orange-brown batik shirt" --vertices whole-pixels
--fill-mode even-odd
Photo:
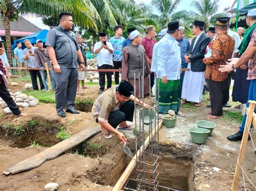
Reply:
[[[212,80],[207,80],[209,84],[209,92],[211,98],[212,115],[222,116],[223,115],[223,100],[224,100],[224,90],[225,81],[215,82]]]

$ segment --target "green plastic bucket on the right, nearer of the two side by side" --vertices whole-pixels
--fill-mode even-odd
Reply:
[[[192,128],[190,129],[190,135],[193,143],[204,144],[206,142],[208,133],[210,130],[204,128]]]

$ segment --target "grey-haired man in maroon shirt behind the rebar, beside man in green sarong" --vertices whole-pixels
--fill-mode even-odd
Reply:
[[[156,29],[154,29],[154,26],[149,25],[146,27],[146,37],[142,39],[142,45],[145,48],[147,61],[149,62],[149,65],[151,67],[151,61],[152,61],[152,54],[153,54],[153,47],[154,44],[156,44],[156,39],[154,37],[156,36]],[[154,86],[154,73],[152,72],[150,74],[150,87],[152,90],[152,87]]]

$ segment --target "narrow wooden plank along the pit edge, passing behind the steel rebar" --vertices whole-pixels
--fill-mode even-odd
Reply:
[[[161,129],[161,127],[163,126],[163,121],[160,122],[158,124],[159,130]],[[156,128],[157,130],[157,128]],[[156,135],[157,132],[155,132],[155,130],[153,129],[152,131],[152,135]],[[147,137],[145,142],[145,149],[147,148],[147,146],[149,146],[150,144],[150,137]],[[137,157],[140,157],[140,155],[142,154],[143,151],[143,146],[140,147],[140,150],[137,151]],[[123,172],[123,174],[120,176],[119,180],[117,181],[116,185],[114,185],[112,191],[119,191],[122,189],[122,187],[124,186],[124,183],[126,182],[126,180],[129,178],[130,174],[133,171],[133,168],[136,166],[136,154],[134,155],[134,157],[132,158],[130,164],[126,167],[125,171]]]

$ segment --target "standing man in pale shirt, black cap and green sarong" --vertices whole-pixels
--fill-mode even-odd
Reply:
[[[168,23],[167,34],[159,41],[156,49],[156,87],[159,88],[159,112],[173,110],[178,114],[180,108],[181,56],[177,42],[179,22]],[[185,116],[182,114],[181,116]]]

